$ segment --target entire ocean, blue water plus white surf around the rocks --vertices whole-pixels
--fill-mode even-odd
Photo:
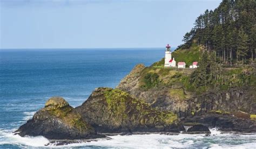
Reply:
[[[48,139],[19,137],[12,132],[62,96],[72,107],[82,104],[97,87],[116,87],[138,63],[150,66],[165,48],[0,49],[0,148],[44,148]],[[256,134],[144,134],[111,136],[112,140],[60,148],[253,148]]]

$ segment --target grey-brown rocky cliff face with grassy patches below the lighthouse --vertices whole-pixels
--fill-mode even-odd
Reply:
[[[178,112],[180,117],[193,113],[200,115],[209,110],[256,112],[254,86],[191,91],[190,75],[193,71],[145,67],[140,64],[133,68],[117,88],[144,100],[154,108]],[[231,76],[234,80],[235,75]]]

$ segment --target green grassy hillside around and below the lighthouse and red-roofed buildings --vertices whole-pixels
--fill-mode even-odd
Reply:
[[[253,67],[223,68],[218,63],[215,64],[214,62],[211,62],[210,54],[206,54],[206,59],[208,60],[202,62],[203,47],[201,46],[193,45],[189,49],[177,49],[172,53],[172,56],[177,62],[185,61],[187,67],[189,67],[193,61],[199,61],[199,68],[164,68],[163,58],[143,70],[142,77],[139,80],[142,89],[147,90],[162,86],[169,88],[183,88],[185,91],[193,91],[197,94],[201,94],[204,91],[218,88],[226,90],[233,87],[256,87],[255,69]],[[203,85],[197,82],[201,79],[202,72],[206,75],[206,83]],[[185,98],[183,91],[180,89],[171,91],[170,94],[172,94],[172,96],[176,96],[177,94],[180,98]]]

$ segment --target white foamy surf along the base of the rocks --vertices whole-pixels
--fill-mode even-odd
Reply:
[[[254,148],[256,146],[256,134],[229,134],[220,133],[217,129],[211,129],[213,135],[205,134],[179,134],[174,136],[164,134],[136,134],[131,136],[110,136],[111,140],[100,139],[88,143],[75,143],[63,146],[54,144],[45,146],[49,140],[42,137],[20,137],[10,131],[0,130],[0,145],[15,144],[21,147],[110,147],[110,148]],[[253,140],[254,138],[254,140]],[[248,141],[252,139],[251,141]],[[240,141],[240,143],[237,142]],[[233,143],[230,143],[230,142]]]

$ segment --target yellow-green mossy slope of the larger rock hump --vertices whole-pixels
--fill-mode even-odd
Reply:
[[[141,125],[171,125],[178,120],[172,112],[160,112],[149,104],[131,97],[125,91],[107,88],[104,91],[107,109],[114,124],[119,126],[124,122],[136,121]]]

